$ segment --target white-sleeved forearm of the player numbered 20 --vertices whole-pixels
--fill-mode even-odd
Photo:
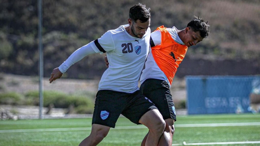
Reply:
[[[85,56],[94,53],[96,52],[92,49],[90,43],[88,43],[73,52],[72,55],[70,55],[69,58],[60,65],[59,70],[64,74],[64,72],[66,72],[73,64],[80,61]]]

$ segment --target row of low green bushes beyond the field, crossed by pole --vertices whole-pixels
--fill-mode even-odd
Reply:
[[[43,92],[43,107],[54,105],[55,108],[69,108],[73,105],[74,113],[92,114],[94,102],[92,97],[68,95],[57,91]],[[16,92],[0,93],[0,104],[7,105],[39,105],[39,92],[29,91],[25,95]]]

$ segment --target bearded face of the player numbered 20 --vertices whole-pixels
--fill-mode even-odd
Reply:
[[[135,22],[131,21],[129,25],[131,26],[132,36],[142,38],[150,26],[150,19],[144,23],[140,22],[140,20],[138,19]]]

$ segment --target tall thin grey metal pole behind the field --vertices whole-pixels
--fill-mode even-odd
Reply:
[[[43,52],[42,52],[42,0],[38,0],[38,50],[39,50],[39,119],[42,119],[43,111]]]

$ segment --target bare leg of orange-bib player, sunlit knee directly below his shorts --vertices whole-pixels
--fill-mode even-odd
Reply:
[[[166,126],[164,132],[160,138],[158,146],[171,146],[172,145],[172,136],[174,133],[174,120],[169,118],[165,120]]]

